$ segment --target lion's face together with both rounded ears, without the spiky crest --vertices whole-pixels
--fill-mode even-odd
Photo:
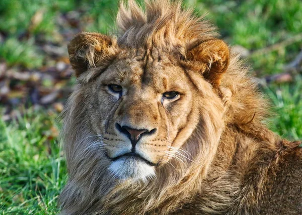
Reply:
[[[215,103],[218,96],[212,87],[219,84],[229,59],[221,40],[190,47],[183,57],[176,49],[128,47],[96,33],[79,34],[70,42],[70,63],[79,88],[69,99],[65,119],[70,125],[65,127],[69,133],[72,127],[79,131],[71,137],[74,141],[68,140],[69,171],[74,159],[78,166],[84,160],[114,178],[146,181],[171,159],[186,157],[180,147],[200,116],[210,114],[201,112],[221,104]],[[217,127],[212,124],[205,129]],[[98,139],[79,139],[87,134]],[[96,147],[99,150],[89,151]],[[190,156],[200,147],[191,148]],[[92,157],[97,164],[90,163]]]

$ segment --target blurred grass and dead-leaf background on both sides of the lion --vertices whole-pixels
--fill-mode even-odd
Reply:
[[[270,100],[269,127],[302,139],[302,1],[187,0],[218,26]],[[75,78],[68,41],[114,32],[115,0],[0,1],[0,214],[56,214],[66,181],[57,120]]]

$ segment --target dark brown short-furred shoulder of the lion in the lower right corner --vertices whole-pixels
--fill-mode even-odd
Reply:
[[[301,214],[302,148],[290,147],[281,152],[277,165],[268,171],[268,177],[266,191],[259,201],[261,214]]]

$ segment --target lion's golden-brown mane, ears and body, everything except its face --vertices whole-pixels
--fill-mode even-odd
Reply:
[[[299,143],[282,140],[263,123],[268,102],[237,54],[216,39],[212,25],[194,16],[193,10],[184,10],[179,1],[149,0],[144,9],[133,1],[121,3],[117,27],[117,37],[81,33],[68,45],[78,86],[63,112],[61,139],[69,179],[59,198],[62,214],[302,211]],[[112,116],[88,114],[111,102],[94,101],[96,79],[129,52],[152,59],[168,53],[166,58],[179,68],[195,71],[186,77],[204,99],[192,107],[198,115],[187,114],[186,122],[193,123],[176,134],[177,152],[155,167],[156,176],[143,180],[112,176],[110,161],[104,148],[96,147],[99,136],[93,132],[97,119]],[[204,82],[198,81],[200,77]],[[104,142],[114,141],[114,134],[107,135]],[[156,151],[161,145],[153,147]]]

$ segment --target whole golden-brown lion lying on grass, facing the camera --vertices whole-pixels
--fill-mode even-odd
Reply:
[[[182,3],[121,3],[117,35],[68,45],[62,214],[300,214],[302,150],[216,28]]]

